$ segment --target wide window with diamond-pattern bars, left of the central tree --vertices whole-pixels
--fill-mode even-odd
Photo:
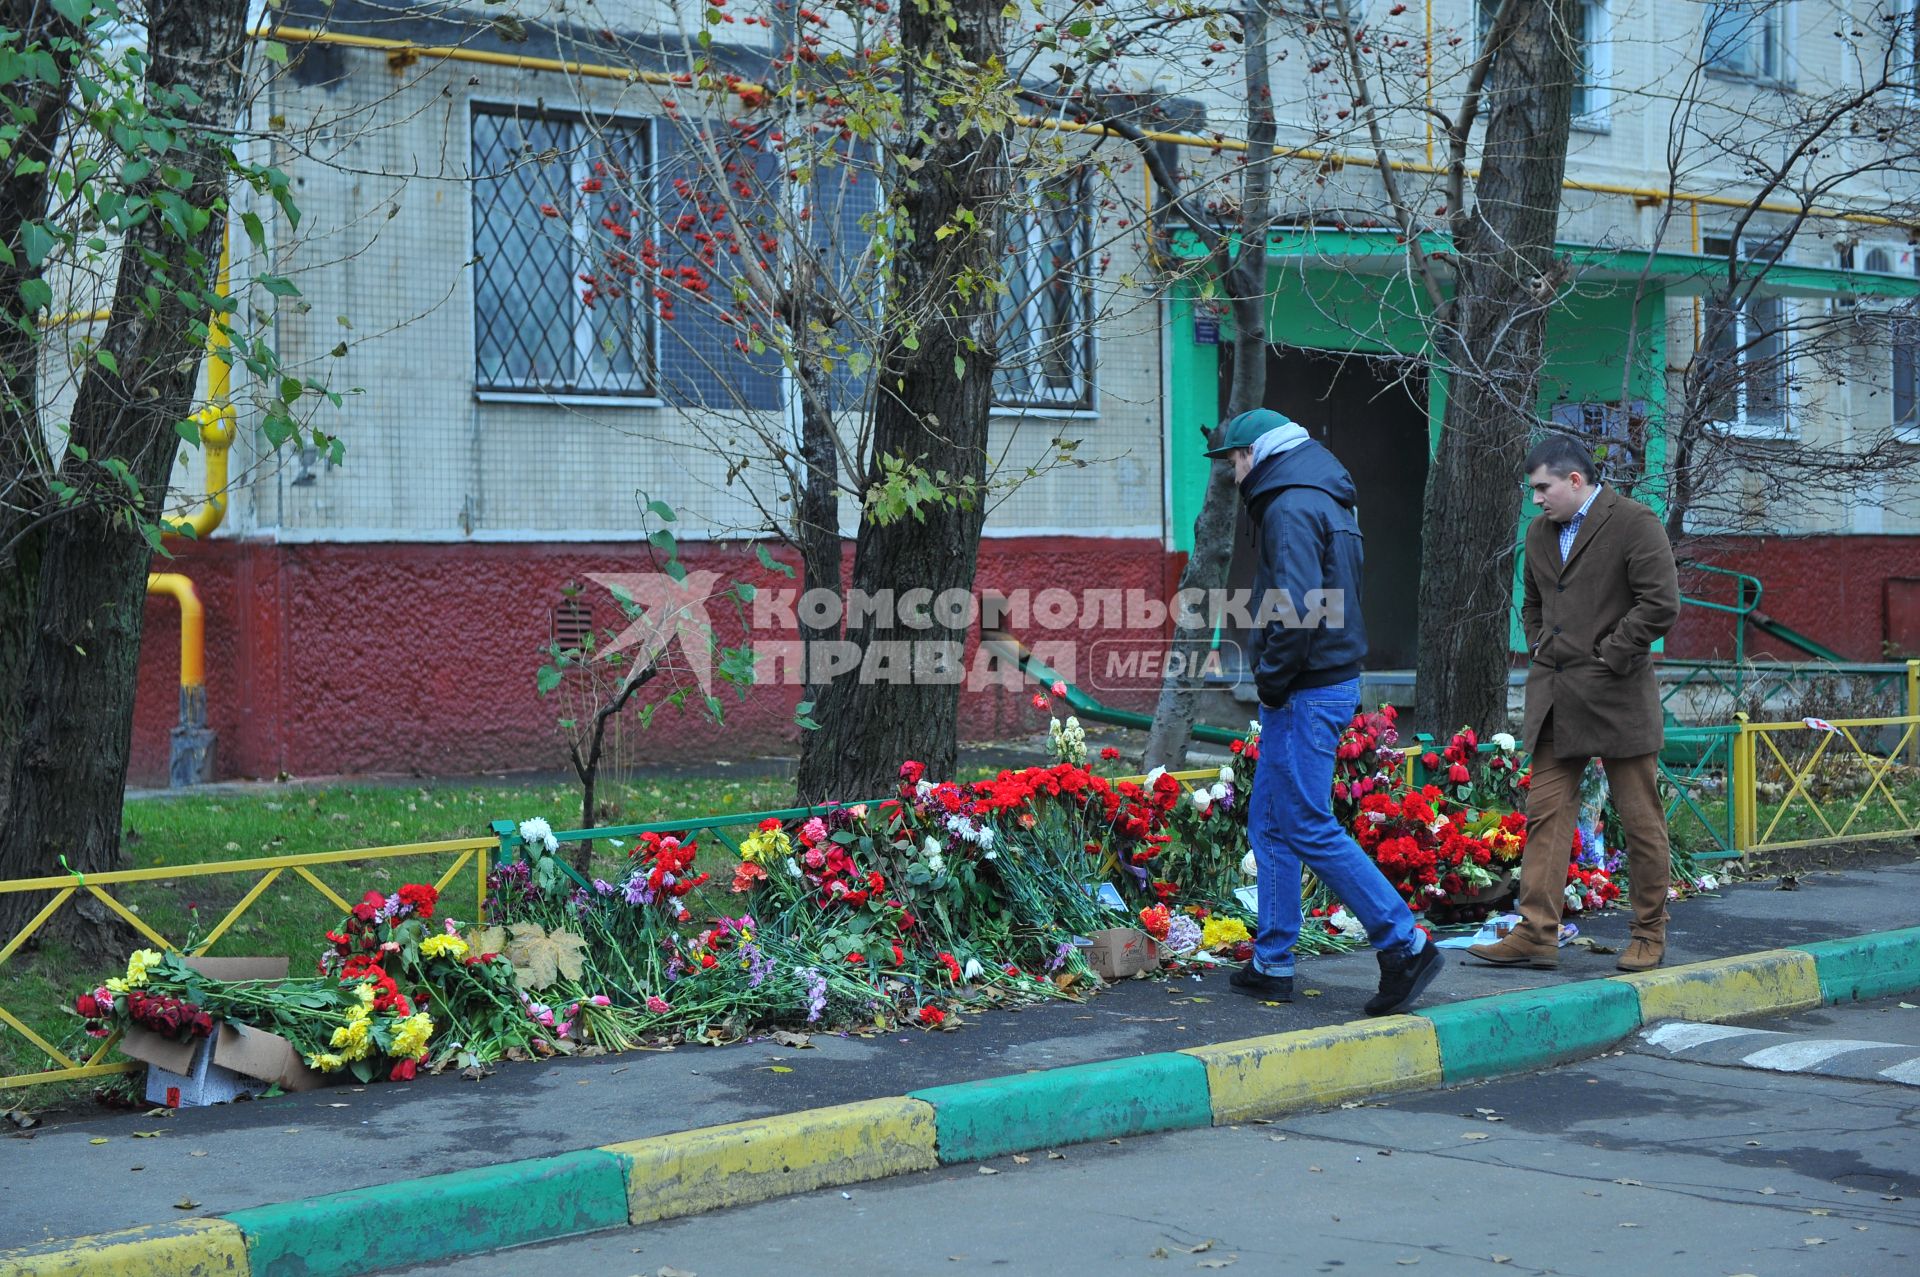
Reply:
[[[657,398],[649,159],[645,121],[474,104],[482,396]]]

